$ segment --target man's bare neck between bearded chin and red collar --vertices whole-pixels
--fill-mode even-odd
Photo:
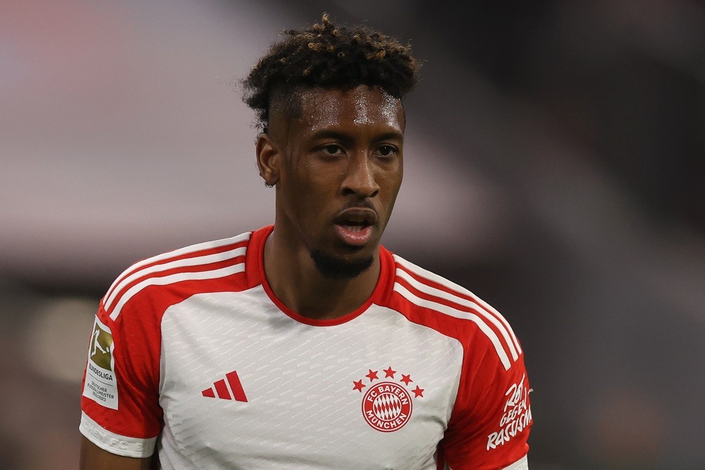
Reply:
[[[306,250],[292,251],[276,227],[264,244],[264,272],[272,291],[288,308],[316,320],[340,318],[369,299],[379,278],[379,248],[372,266],[352,279],[329,279]]]

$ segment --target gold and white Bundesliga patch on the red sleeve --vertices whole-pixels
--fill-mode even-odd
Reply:
[[[114,348],[110,328],[96,317],[88,349],[83,396],[110,409],[118,409]]]

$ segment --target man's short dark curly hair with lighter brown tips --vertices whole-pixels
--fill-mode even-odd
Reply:
[[[243,101],[269,123],[272,104],[297,88],[351,90],[379,86],[401,99],[418,80],[421,62],[409,44],[361,25],[334,25],[327,13],[307,30],[285,30],[243,80]],[[295,97],[293,97],[295,99]]]

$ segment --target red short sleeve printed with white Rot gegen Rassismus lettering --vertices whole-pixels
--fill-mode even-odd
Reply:
[[[468,347],[441,460],[453,470],[525,469],[533,419],[520,354],[505,368],[494,349]]]

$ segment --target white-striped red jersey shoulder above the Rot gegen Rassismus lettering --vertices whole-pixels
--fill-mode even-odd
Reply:
[[[508,321],[471,291],[393,255],[394,275],[390,303],[415,323],[455,337],[467,349],[491,352],[508,370],[522,354]],[[472,354],[474,357],[485,354]]]

